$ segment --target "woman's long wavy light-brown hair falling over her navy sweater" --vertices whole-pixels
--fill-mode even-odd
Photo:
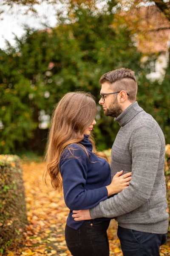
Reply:
[[[80,143],[84,138],[85,129],[92,124],[95,115],[96,103],[94,97],[85,92],[66,93],[54,109],[48,134],[45,156],[47,167],[44,180],[46,183],[47,174],[49,174],[51,185],[59,192],[62,190],[62,179],[59,172],[61,154],[66,148],[69,149],[69,144]],[[89,136],[89,140],[93,145],[93,153],[108,161],[108,157],[104,153],[96,151],[92,135]],[[86,148],[82,144],[79,145],[88,155]]]

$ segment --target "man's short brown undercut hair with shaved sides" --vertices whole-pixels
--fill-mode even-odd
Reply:
[[[136,83],[134,71],[127,68],[119,68],[102,75],[100,84],[108,82],[113,91],[125,90],[129,93],[128,99],[131,103],[136,101],[138,86]]]

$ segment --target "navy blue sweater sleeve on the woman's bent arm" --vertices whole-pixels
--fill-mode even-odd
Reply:
[[[74,150],[74,157],[68,149],[60,160],[60,172],[63,181],[65,204],[71,210],[89,209],[108,198],[106,187],[86,190],[88,166],[85,164],[87,154],[83,149]]]

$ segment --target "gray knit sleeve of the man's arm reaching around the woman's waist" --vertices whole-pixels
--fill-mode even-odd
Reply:
[[[161,152],[158,134],[148,125],[139,126],[131,136],[130,152],[132,155],[130,186],[90,209],[91,218],[126,214],[142,206],[150,198]]]

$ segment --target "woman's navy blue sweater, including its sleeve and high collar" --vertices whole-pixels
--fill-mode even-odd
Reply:
[[[97,157],[92,152],[93,146],[88,137],[85,135],[80,144],[86,147],[90,161],[84,149],[77,143],[72,143],[69,145],[71,152],[65,149],[59,162],[65,204],[70,209],[67,224],[76,230],[84,221],[74,221],[72,211],[89,209],[106,200],[108,190],[105,186],[111,183],[110,166],[105,159]]]

